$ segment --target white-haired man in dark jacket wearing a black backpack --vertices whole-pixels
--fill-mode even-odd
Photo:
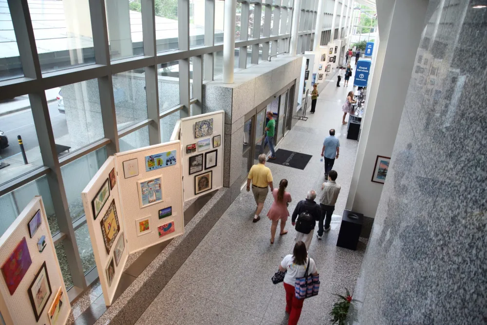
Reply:
[[[321,217],[321,209],[315,202],[316,191],[308,191],[308,196],[305,200],[298,202],[296,209],[294,209],[291,222],[293,226],[296,225],[296,242],[302,241],[306,245],[306,250],[309,249],[313,233],[315,232],[316,222]],[[296,220],[298,218],[298,220]]]

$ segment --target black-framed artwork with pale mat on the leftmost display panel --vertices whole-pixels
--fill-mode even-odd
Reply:
[[[51,282],[49,282],[49,276],[47,275],[46,262],[40,267],[27,293],[29,294],[32,309],[34,309],[36,322],[38,322],[42,311],[53,293],[51,290]]]

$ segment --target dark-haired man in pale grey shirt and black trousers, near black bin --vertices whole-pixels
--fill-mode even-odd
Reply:
[[[335,211],[335,203],[337,203],[338,194],[340,194],[341,186],[337,184],[336,180],[338,173],[330,171],[328,173],[328,182],[321,185],[321,198],[319,200],[319,207],[321,208],[321,218],[318,222],[318,239],[323,236],[323,231],[330,230],[330,223],[332,221],[332,214]],[[325,221],[325,228],[323,229],[323,220]]]

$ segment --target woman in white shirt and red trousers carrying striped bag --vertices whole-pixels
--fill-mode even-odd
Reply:
[[[296,325],[300,319],[304,299],[296,298],[294,285],[296,278],[304,276],[307,266],[308,252],[302,241],[294,245],[293,254],[286,255],[279,266],[279,270],[282,272],[287,271],[284,276],[284,289],[286,290],[286,313],[289,314],[288,325]],[[315,261],[312,258],[309,258],[308,274],[318,275]]]

